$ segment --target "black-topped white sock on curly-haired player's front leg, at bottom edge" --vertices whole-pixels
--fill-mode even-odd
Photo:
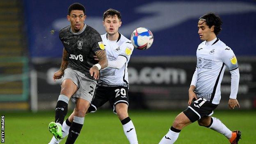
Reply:
[[[178,139],[180,132],[181,130],[171,127],[168,133],[161,139],[159,144],[173,144]]]

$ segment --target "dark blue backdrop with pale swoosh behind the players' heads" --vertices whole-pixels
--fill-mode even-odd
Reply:
[[[148,27],[154,34],[149,50],[135,50],[133,56],[194,56],[201,43],[197,34],[198,18],[213,11],[223,20],[217,36],[237,56],[255,56],[256,2],[254,0],[25,0],[31,57],[61,57],[58,32],[69,25],[68,7],[80,2],[86,7],[85,23],[100,34],[105,30],[102,15],[108,8],[121,11],[120,32],[126,37],[137,27]],[[50,31],[55,30],[54,34]]]

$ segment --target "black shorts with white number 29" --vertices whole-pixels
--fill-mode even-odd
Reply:
[[[98,107],[104,105],[107,101],[113,106],[113,112],[117,114],[115,106],[118,103],[128,103],[128,87],[118,86],[118,87],[103,87],[98,86],[96,89],[96,94],[91,101],[91,105],[88,112],[96,112]]]

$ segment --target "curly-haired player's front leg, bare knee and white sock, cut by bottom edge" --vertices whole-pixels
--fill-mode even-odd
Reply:
[[[181,130],[190,123],[192,122],[184,114],[184,112],[178,114],[168,133],[161,139],[159,144],[173,144],[178,139],[178,135],[180,134]]]

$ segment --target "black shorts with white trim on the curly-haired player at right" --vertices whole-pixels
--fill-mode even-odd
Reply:
[[[183,113],[191,122],[195,122],[204,116],[211,116],[217,106],[218,105],[206,101],[204,98],[198,98],[197,101],[191,103]]]

